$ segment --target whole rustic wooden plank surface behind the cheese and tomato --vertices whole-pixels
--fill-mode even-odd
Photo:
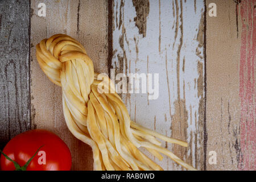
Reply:
[[[39,3],[46,16],[39,16]],[[217,16],[209,16],[210,3]],[[131,119],[188,148],[168,149],[200,170],[256,169],[256,1],[0,1],[0,147],[47,129],[71,148],[76,170],[92,169],[90,147],[69,133],[61,88],[41,71],[40,40],[79,40],[96,72],[159,73],[159,97],[122,94]],[[211,152],[217,164],[208,162]],[[182,170],[164,158],[166,170]]]

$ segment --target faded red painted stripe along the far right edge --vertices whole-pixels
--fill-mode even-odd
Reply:
[[[256,170],[256,122],[255,122],[255,0],[241,2],[241,152],[240,170]]]

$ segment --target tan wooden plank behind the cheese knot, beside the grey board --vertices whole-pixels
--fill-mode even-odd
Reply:
[[[38,4],[46,4],[46,17],[39,17]],[[31,122],[36,128],[53,131],[72,152],[72,169],[93,169],[89,146],[68,131],[63,117],[61,88],[41,71],[35,57],[40,40],[63,33],[81,42],[97,72],[108,73],[107,7],[105,1],[31,1]]]

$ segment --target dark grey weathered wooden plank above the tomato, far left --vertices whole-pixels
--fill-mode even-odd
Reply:
[[[30,4],[0,1],[0,147],[30,125]]]

